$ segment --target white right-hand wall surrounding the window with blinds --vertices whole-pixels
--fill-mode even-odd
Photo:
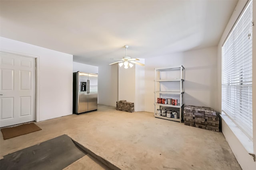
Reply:
[[[239,0],[238,4],[236,5],[236,8],[226,26],[226,29],[224,30],[222,37],[220,39],[220,42],[218,44],[218,110],[221,111],[221,80],[222,80],[222,57],[221,57],[221,53],[222,53],[222,45],[226,39],[226,37],[228,36],[228,33],[230,32],[230,30],[232,29],[232,26],[234,25],[234,23],[236,22],[238,16],[240,15],[240,13],[242,12],[245,4],[246,4],[247,0]],[[253,4],[253,18],[254,18],[254,27],[253,27],[253,45],[252,45],[252,50],[253,50],[253,82],[255,82],[255,78],[256,78],[256,61],[254,59],[256,59],[256,26],[255,26],[255,21],[256,21],[256,1],[254,1]],[[255,69],[254,69],[255,68]],[[255,74],[254,74],[255,73]],[[256,100],[256,83],[253,83],[253,89],[252,89],[253,95],[252,95],[252,99],[253,101]],[[254,136],[254,141],[253,141],[253,145],[254,145],[254,154],[256,153],[256,105],[254,104],[252,106],[253,109],[253,136]],[[255,170],[256,169],[256,162],[253,161],[252,157],[249,156],[248,151],[245,149],[245,147],[242,145],[242,143],[238,140],[238,138],[236,137],[236,135],[234,134],[234,132],[232,131],[232,128],[230,129],[229,127],[229,123],[225,122],[222,119],[222,133],[224,134],[226,141],[228,141],[228,144],[230,145],[230,148],[232,149],[232,152],[234,153],[234,155],[236,156],[236,159],[238,161],[238,163],[240,164],[240,166],[242,167],[242,169],[244,170]]]

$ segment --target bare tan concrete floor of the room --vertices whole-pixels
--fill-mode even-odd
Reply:
[[[41,131],[3,140],[0,156],[66,134],[120,169],[241,170],[220,132],[155,118],[153,113],[117,111],[98,105],[98,111],[36,123]],[[86,155],[66,167],[107,169]]]

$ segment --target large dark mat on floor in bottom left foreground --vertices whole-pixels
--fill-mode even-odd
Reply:
[[[87,153],[67,135],[4,156],[1,170],[62,170]]]

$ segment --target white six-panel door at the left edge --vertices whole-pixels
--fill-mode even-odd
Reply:
[[[0,127],[35,120],[35,59],[0,52]]]

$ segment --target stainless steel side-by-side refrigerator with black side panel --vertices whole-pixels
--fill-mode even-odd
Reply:
[[[98,109],[98,74],[73,73],[73,113],[80,114]]]

